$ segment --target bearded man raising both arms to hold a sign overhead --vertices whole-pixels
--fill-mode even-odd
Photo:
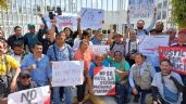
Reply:
[[[128,28],[131,28],[133,31],[136,31],[137,35],[149,35],[149,31],[153,28],[156,21],[157,21],[157,8],[154,8],[154,12],[153,12],[153,18],[151,24],[147,27],[144,28],[145,26],[145,22],[142,20],[137,21],[137,29],[134,29],[133,25],[129,22],[129,10],[127,11],[127,26]]]

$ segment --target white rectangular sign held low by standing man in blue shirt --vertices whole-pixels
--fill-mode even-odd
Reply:
[[[52,87],[69,87],[83,84],[84,62],[52,62]]]

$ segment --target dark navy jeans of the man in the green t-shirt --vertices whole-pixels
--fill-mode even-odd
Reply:
[[[116,102],[117,104],[126,104],[128,94],[128,84],[116,83]]]

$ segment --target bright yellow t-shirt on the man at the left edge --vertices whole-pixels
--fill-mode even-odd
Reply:
[[[9,70],[20,67],[20,64],[17,63],[16,60],[14,60],[10,55],[5,55],[5,57],[0,57],[0,75],[5,75],[5,73],[7,73],[7,65],[5,65],[5,62],[4,62],[5,58],[7,58],[7,63],[8,63],[8,66],[9,66]]]

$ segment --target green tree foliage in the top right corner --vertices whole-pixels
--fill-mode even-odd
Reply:
[[[178,28],[186,28],[186,0],[172,0],[172,16]]]

